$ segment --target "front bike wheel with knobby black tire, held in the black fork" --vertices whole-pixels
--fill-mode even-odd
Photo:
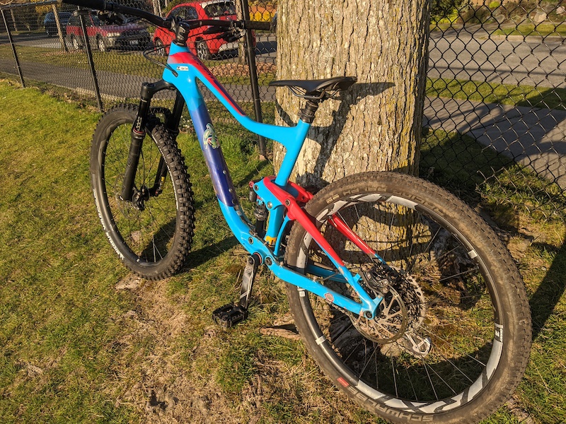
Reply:
[[[110,245],[139,276],[166,278],[183,265],[194,229],[191,184],[183,156],[166,129],[149,119],[134,179],[134,199],[122,199],[122,182],[137,107],[106,113],[94,132],[91,183]]]

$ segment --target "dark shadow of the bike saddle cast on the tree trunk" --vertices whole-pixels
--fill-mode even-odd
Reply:
[[[331,114],[330,124],[327,126],[311,126],[309,129],[309,134],[342,134],[346,122],[350,119],[350,109],[352,106],[357,105],[361,100],[368,97],[373,97],[380,95],[389,88],[395,86],[394,83],[382,82],[382,83],[356,83],[349,90],[342,91],[339,95],[335,97],[335,100],[340,100],[336,110],[333,110]],[[301,102],[303,105],[304,102]],[[279,117],[282,119],[284,124],[287,126],[295,126],[296,121],[291,118],[289,113],[283,109],[282,105],[275,100],[275,109]],[[320,112],[319,112],[320,114]],[[326,120],[326,119],[325,119]],[[316,121],[315,121],[316,124]],[[314,137],[313,139],[316,143],[320,144],[321,152],[332,151],[338,141],[338,137],[328,137],[324,138],[323,142],[318,141],[319,137]],[[308,173],[308,186],[311,185],[318,187],[324,187],[328,184],[328,181],[323,180],[320,176],[323,175],[323,171],[328,164],[328,158],[330,155],[318,155],[316,159],[316,164],[313,168],[312,173]]]

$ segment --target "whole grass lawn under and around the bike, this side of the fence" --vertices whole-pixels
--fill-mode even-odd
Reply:
[[[100,228],[88,177],[99,115],[1,81],[0,99],[18,107],[17,114],[0,109],[2,423],[137,423],[158,413],[182,422],[380,422],[337,394],[301,342],[261,335],[262,326],[287,312],[282,283],[266,271],[256,281],[245,325],[224,332],[212,324],[212,311],[237,296],[245,252],[221,218],[194,136],[179,137],[197,204],[187,264],[166,281],[117,290],[128,273]],[[273,109],[265,111],[267,121]],[[248,181],[269,175],[272,167],[256,159],[255,136],[237,129],[217,105],[212,110],[244,198]],[[451,187],[462,193],[464,183],[475,189],[480,179],[473,167],[451,167],[452,177],[441,169],[465,155],[482,157],[484,149],[455,134],[434,132],[427,140],[422,170],[449,187],[457,178]],[[453,158],[431,159],[447,146],[454,146]],[[502,168],[512,169],[495,154],[480,166],[497,175]],[[478,201],[497,211],[496,200],[506,194],[495,185],[491,190],[480,192]],[[496,219],[508,223],[509,246],[520,253],[537,330],[519,406],[535,422],[561,422],[565,226],[528,211],[506,211],[518,216],[509,221],[514,227],[503,216]],[[486,421],[503,422],[519,419],[504,407]]]

